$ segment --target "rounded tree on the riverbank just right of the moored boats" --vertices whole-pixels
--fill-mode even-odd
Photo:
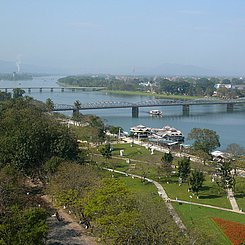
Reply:
[[[217,133],[206,128],[193,128],[188,134],[188,140],[194,140],[192,145],[194,150],[202,150],[208,154],[215,148],[220,147]]]

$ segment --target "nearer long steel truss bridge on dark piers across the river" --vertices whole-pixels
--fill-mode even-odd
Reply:
[[[132,108],[132,117],[139,116],[140,107],[154,107],[154,106],[182,106],[183,114],[188,115],[190,106],[192,105],[226,105],[227,111],[233,111],[235,104],[245,104],[245,99],[195,99],[195,100],[166,100],[155,99],[146,100],[136,103],[125,101],[97,101],[91,103],[82,103],[79,108],[73,105],[55,104],[53,111],[73,111],[73,113],[80,110],[93,109],[113,109],[113,108]]]

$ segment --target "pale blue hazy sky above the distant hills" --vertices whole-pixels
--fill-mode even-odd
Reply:
[[[70,73],[245,74],[244,0],[0,0],[0,60]]]

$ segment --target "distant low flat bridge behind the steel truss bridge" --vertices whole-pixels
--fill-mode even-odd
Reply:
[[[59,91],[59,92],[65,92],[65,91],[99,91],[99,90],[103,90],[106,89],[106,87],[19,87],[20,89],[25,90],[28,93],[31,93],[33,91],[35,92],[54,92],[54,91]],[[0,87],[0,91],[4,91],[4,92],[12,92],[13,87],[4,87],[1,88]]]

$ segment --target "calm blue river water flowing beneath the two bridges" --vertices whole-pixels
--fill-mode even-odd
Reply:
[[[36,77],[28,81],[0,81],[0,87],[41,87],[53,86],[58,87],[56,81],[58,77]],[[75,100],[82,103],[95,101],[127,101],[139,102],[149,100],[154,97],[146,96],[128,96],[107,94],[106,92],[96,91],[76,91],[76,92],[54,92],[38,90],[31,93],[26,92],[35,99],[46,101],[51,98],[54,103],[73,105]],[[152,117],[149,110],[159,109],[163,112],[163,117]],[[100,116],[106,124],[122,127],[125,131],[129,131],[130,127],[143,124],[149,127],[163,127],[170,125],[183,132],[185,136],[192,128],[208,128],[215,130],[220,136],[221,147],[225,149],[231,143],[237,143],[245,147],[245,106],[235,106],[233,112],[226,111],[226,105],[203,105],[191,106],[188,116],[183,116],[182,107],[147,107],[139,108],[139,117],[132,118],[131,108],[127,109],[103,109],[103,110],[83,110],[83,114],[96,114]],[[67,113],[71,115],[70,113]],[[186,142],[188,143],[188,142]]]

